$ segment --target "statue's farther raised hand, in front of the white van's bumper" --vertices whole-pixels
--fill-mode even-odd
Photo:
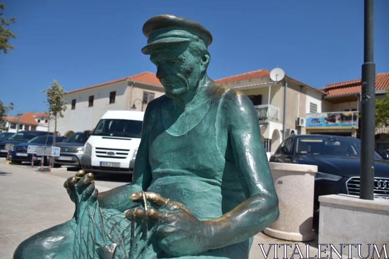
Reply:
[[[76,204],[76,208],[82,203],[90,205],[97,201],[98,191],[94,186],[93,173],[85,174],[84,170],[80,170],[75,176],[69,177],[64,187],[68,191],[71,200]]]

